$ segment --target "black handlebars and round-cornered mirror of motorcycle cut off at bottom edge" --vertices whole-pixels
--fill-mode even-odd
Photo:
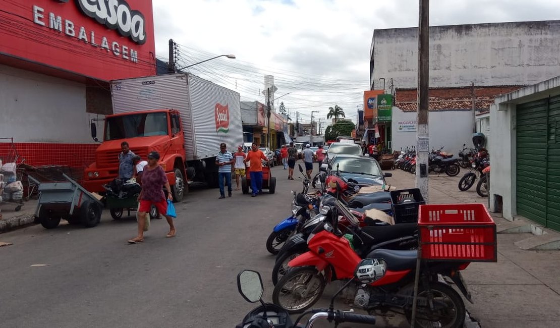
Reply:
[[[354,322],[356,324],[375,324],[375,316],[357,315],[349,311],[334,309],[335,297],[344,289],[341,288],[330,300],[328,309],[316,309],[307,311],[297,318],[292,324],[292,320],[287,311],[278,307],[276,304],[264,303],[263,301],[263,280],[260,274],[253,270],[242,270],[237,274],[237,289],[245,301],[249,303],[260,302],[260,306],[251,310],[236,328],[295,328],[304,326],[299,325],[301,319],[306,315],[311,315],[305,327],[311,328],[316,320],[325,318],[329,322],[334,322],[335,327],[343,322]]]

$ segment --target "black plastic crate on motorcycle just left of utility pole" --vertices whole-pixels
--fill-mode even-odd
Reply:
[[[418,208],[424,204],[426,201],[418,188],[391,191],[395,223],[418,222]]]

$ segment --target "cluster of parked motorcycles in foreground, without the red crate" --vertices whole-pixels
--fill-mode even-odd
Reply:
[[[419,190],[361,194],[357,181],[328,170],[320,190],[310,192],[310,181],[301,166],[300,172],[303,187],[300,193],[292,191],[292,215],[278,223],[267,240],[267,250],[276,254],[273,304],[261,299],[260,274],[242,271],[238,276],[240,293],[262,306],[237,327],[295,327],[289,315],[302,312],[296,324],[312,314],[307,327],[318,318],[374,324],[375,316],[389,312],[404,314],[411,322],[418,207],[424,204]],[[379,212],[368,217],[368,209]],[[449,261],[421,266],[416,326],[463,326],[465,304],[450,282],[470,301],[460,273],[469,264]],[[344,282],[337,294],[342,293],[347,302],[369,315],[335,310],[334,297],[329,309],[309,310],[323,296],[326,285],[337,280]]]

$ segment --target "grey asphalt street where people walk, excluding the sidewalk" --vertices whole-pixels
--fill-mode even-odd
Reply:
[[[13,245],[0,248],[0,326],[234,327],[256,306],[237,291],[240,270],[260,271],[263,298],[272,301],[274,256],[265,241],[290,214],[290,190],[301,190],[282,167],[272,172],[276,194],[251,198],[234,190],[218,200],[217,189],[191,190],[176,204],[174,238],[165,237],[165,219],[152,220],[144,243],[129,245],[136,218],[114,221],[108,210],[94,228],[36,225],[2,234]],[[328,305],[335,287],[316,307]],[[357,325],[340,325],[350,326]]]

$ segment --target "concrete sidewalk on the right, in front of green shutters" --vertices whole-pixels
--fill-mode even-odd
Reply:
[[[459,191],[456,177],[430,175],[431,204],[484,203],[474,185]],[[398,189],[414,188],[414,175],[401,170],[391,172],[389,184]],[[492,213],[491,213],[492,214]],[[509,221],[492,215],[500,228]],[[465,301],[473,320],[480,326],[496,328],[560,327],[560,252],[524,251],[515,242],[532,238],[531,233],[498,233],[498,262],[473,263],[463,271],[474,304]]]

